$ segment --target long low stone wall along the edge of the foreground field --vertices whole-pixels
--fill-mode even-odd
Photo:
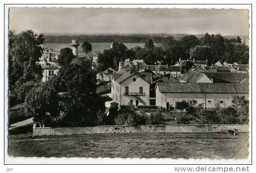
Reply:
[[[228,133],[249,132],[249,125],[147,125],[90,127],[33,127],[33,136],[83,135],[95,133]]]

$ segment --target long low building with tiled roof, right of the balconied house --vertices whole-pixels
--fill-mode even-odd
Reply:
[[[249,83],[157,83],[156,106],[166,110],[182,100],[196,100],[205,108],[228,107],[233,96],[249,98]]]

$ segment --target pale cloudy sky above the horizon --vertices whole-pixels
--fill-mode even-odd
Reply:
[[[16,32],[97,34],[168,33],[249,35],[249,10],[10,7]]]

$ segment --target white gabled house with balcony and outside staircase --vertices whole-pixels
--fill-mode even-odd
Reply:
[[[149,105],[151,78],[132,71],[114,74],[111,81],[112,100],[120,105],[131,103],[135,106]]]

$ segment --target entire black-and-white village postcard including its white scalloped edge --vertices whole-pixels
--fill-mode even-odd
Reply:
[[[248,6],[5,10],[8,157],[251,159]]]

